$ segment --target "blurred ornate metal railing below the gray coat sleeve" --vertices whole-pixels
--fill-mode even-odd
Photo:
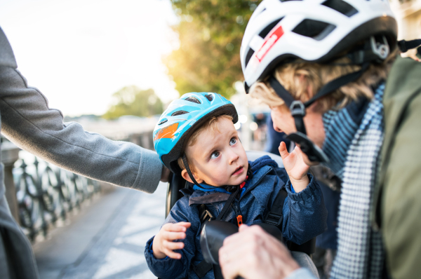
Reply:
[[[70,212],[100,191],[99,182],[93,179],[39,163],[35,158],[34,165],[28,166],[20,159],[13,170],[20,226],[32,241],[40,233],[47,236],[51,224],[65,222]]]

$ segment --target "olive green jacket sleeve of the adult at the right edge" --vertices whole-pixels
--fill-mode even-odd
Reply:
[[[401,120],[382,196],[382,236],[392,278],[420,278],[421,274],[420,118],[421,94],[417,93]]]

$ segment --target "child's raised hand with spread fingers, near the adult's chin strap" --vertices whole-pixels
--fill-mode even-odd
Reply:
[[[304,190],[309,184],[309,178],[307,177],[309,165],[304,163],[300,147],[295,147],[291,153],[288,153],[285,142],[281,142],[279,144],[279,154],[281,154],[283,167],[290,177],[295,192],[298,193]]]

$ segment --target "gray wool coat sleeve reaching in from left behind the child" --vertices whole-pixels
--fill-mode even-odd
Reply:
[[[155,191],[162,163],[154,151],[86,132],[78,123],[63,123],[61,111],[50,109],[46,97],[27,86],[1,29],[0,47],[1,132],[5,137],[79,175],[148,193]]]

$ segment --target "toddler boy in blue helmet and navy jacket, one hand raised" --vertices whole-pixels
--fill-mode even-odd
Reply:
[[[300,149],[289,154],[281,143],[284,168],[278,168],[269,156],[248,162],[234,128],[237,118],[234,106],[224,97],[189,93],[173,101],[156,125],[154,144],[159,158],[194,184],[194,192],[175,203],[159,233],[147,242],[147,264],[159,278],[199,278],[194,268],[203,261],[198,206],[205,204],[210,215],[217,217],[233,187],[239,189],[223,218],[226,222],[263,222],[276,194],[285,187],[283,238],[301,244],[326,229],[323,196],[314,178],[307,175]],[[166,125],[161,128],[162,124]],[[201,278],[214,278],[213,270]]]

